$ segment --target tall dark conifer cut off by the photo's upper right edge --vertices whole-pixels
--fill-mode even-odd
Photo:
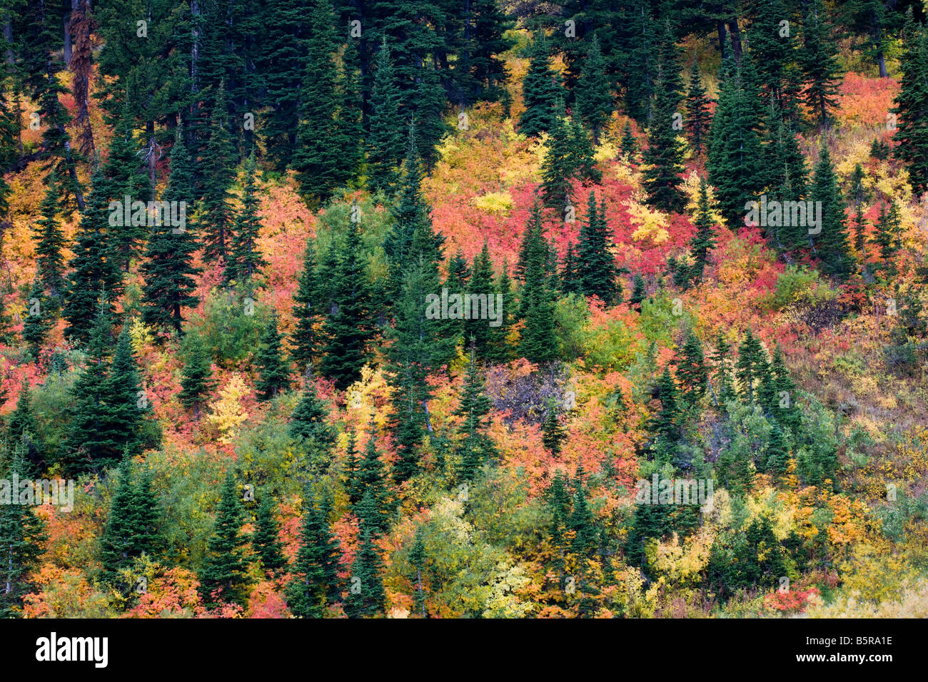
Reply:
[[[912,188],[924,192],[928,190],[928,30],[919,27],[911,14],[903,45],[899,93],[896,107],[890,109],[897,116],[894,154],[909,169]]]

